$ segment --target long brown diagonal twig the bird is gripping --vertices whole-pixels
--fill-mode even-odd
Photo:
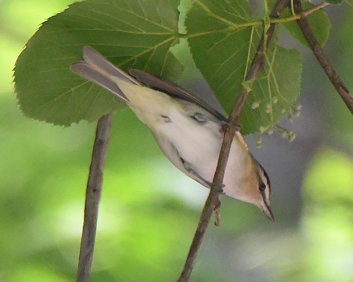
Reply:
[[[276,2],[275,7],[270,13],[270,17],[278,18],[279,14],[288,5],[289,1],[290,0],[278,0]],[[272,23],[269,29],[267,30],[266,47],[269,44],[269,41],[273,35],[274,30],[275,30],[275,23]],[[251,81],[252,79],[256,78],[256,76],[263,71],[264,63],[265,63],[264,42],[265,42],[265,39],[264,37],[262,37],[259,43],[259,46],[257,48],[257,54],[255,56],[255,59],[253,60],[252,65],[249,69],[249,72],[247,73],[247,76],[246,76],[247,81]],[[225,129],[220,157],[218,160],[215,176],[213,179],[214,188],[211,188],[208,198],[206,200],[198,227],[196,229],[195,236],[190,246],[189,254],[186,258],[184,269],[181,272],[181,275],[177,282],[189,282],[190,280],[191,272],[196,261],[198,250],[201,246],[203,235],[210,222],[212,213],[215,210],[215,207],[219,201],[219,193],[220,193],[219,188],[222,187],[223,177],[226,170],[231,143],[234,138],[235,128],[236,128],[236,125],[238,124],[239,116],[240,116],[241,110],[244,107],[248,93],[249,91],[246,90],[244,87],[242,87],[237,104],[234,106],[234,110],[229,116],[228,127],[226,127]]]

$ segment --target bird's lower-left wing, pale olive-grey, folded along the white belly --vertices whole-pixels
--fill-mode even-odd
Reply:
[[[160,147],[161,151],[173,165],[175,165],[181,172],[185,173],[190,178],[196,180],[201,185],[210,188],[209,184],[206,183],[203,179],[197,177],[194,173],[185,169],[183,160],[180,158],[177,148],[175,148],[173,143],[170,142],[170,140],[166,136],[157,131],[152,131],[152,135],[156,140],[158,146]]]

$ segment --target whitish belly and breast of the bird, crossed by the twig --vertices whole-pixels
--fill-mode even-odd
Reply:
[[[158,130],[173,143],[192,171],[207,182],[213,182],[223,141],[221,124],[208,121],[203,125],[178,112],[168,114],[170,122],[161,122]],[[226,195],[239,198],[250,167],[251,155],[244,143],[234,136],[223,180]]]

